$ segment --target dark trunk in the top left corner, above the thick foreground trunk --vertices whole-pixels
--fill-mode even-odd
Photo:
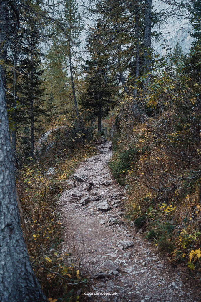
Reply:
[[[6,84],[5,72],[7,63],[7,48],[8,48],[8,0],[2,0],[0,3],[0,69],[4,85]]]

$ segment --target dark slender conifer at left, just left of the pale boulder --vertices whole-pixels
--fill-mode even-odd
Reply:
[[[41,115],[45,115],[47,112],[42,108],[42,96],[44,95],[44,89],[41,88],[41,84],[44,79],[42,79],[43,70],[39,69],[41,61],[38,58],[38,53],[36,52],[39,32],[34,22],[29,24],[29,26],[31,28],[28,27],[26,33],[27,44],[29,47],[25,47],[25,58],[20,60],[21,72],[23,75],[21,82],[21,93],[23,94],[23,97],[21,97],[20,100],[26,108],[24,110],[24,127],[26,128],[26,134],[24,135],[23,140],[26,144],[26,151],[27,142],[30,141],[28,148],[30,150],[30,156],[33,156],[34,133],[36,130],[39,130],[38,127],[36,127],[36,122],[39,120]],[[30,128],[29,131],[27,131],[28,127]]]

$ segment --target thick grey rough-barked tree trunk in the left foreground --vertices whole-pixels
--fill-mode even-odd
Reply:
[[[5,89],[0,74],[0,301],[47,301],[34,274],[20,226]]]

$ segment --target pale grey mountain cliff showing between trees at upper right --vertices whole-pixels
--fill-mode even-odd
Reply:
[[[167,5],[159,0],[153,2],[153,5],[155,8],[157,7],[158,11],[167,9]],[[168,6],[168,10],[171,11],[171,6]],[[177,42],[179,42],[184,53],[187,53],[193,41],[190,36],[191,31],[192,26],[189,23],[187,11],[183,11],[180,16],[178,15],[178,18],[170,18],[162,28],[162,38],[152,43],[155,54],[164,56],[166,55],[166,50],[171,53],[171,51],[174,51]]]

